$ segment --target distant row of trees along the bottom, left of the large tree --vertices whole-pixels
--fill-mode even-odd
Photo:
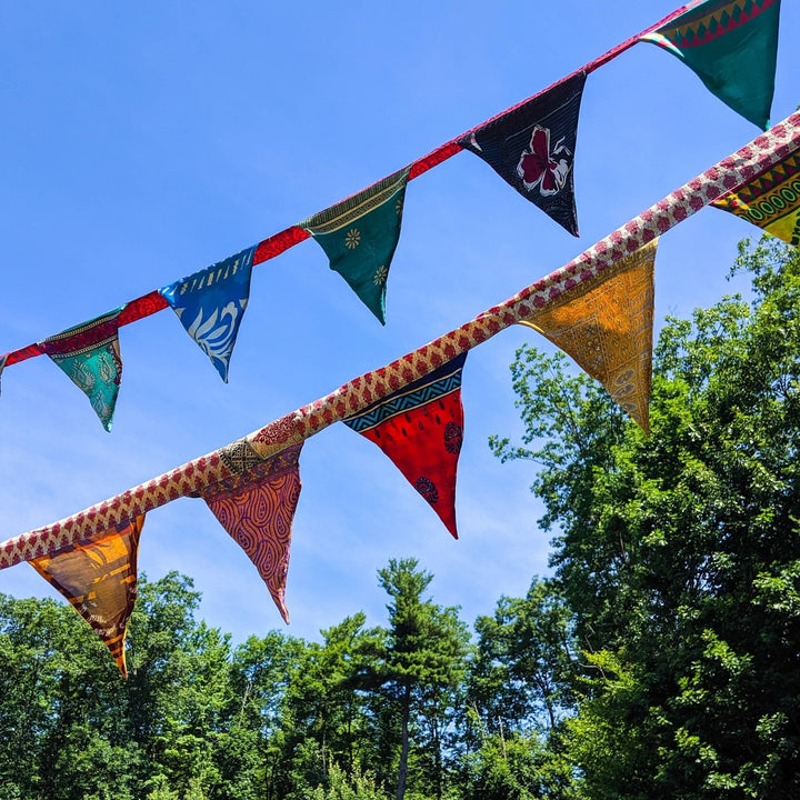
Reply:
[[[519,624],[561,648],[568,617],[534,580],[483,620],[479,652],[458,610],[426,596],[431,578],[413,559],[379,571],[386,627],[359,612],[320,642],[272,631],[238,647],[194,619],[191,579],[142,579],[127,680],[69,606],[0,594],[0,798],[500,797],[487,780],[533,797],[516,768],[487,768],[534,766],[563,703],[536,683],[544,664],[517,663],[519,686],[503,689],[492,661]]]

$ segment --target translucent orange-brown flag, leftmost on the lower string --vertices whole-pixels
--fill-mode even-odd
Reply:
[[[128,677],[124,640],[137,598],[137,557],[144,516],[68,544],[29,563],[60,591]]]

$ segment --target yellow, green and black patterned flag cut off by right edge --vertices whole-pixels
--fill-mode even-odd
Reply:
[[[711,204],[800,247],[800,152],[767,168]]]

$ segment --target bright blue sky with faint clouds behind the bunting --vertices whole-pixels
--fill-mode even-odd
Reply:
[[[798,103],[800,7],[783,3],[773,121]],[[673,0],[590,3],[6,3],[0,27],[0,352],[118,307],[399,169],[647,28]],[[589,77],[573,239],[460,153],[413,181],[381,328],[322,250],[253,270],[223,384],[171,311],[121,331],[114,429],[47,358],[6,370],[0,539],[54,521],[226,444],[471,319],[569,261],[758,133],[676,58],[638,44]],[[744,222],[707,209],[669,232],[657,319],[736,288]],[[453,541],[389,460],[343,426],[310,439],[294,521],[289,631],[384,618],[376,570],[417,557],[472,621],[547,571],[519,436],[512,329],[473,350]],[[542,343],[542,342],[539,342]],[[148,516],[140,568],[178,569],[237,640],[282,622],[200,500]],[[26,564],[0,591],[51,596]]]

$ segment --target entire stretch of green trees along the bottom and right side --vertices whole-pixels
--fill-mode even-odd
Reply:
[[[521,348],[547,579],[472,629],[391,560],[382,626],[233,647],[142,580],[127,681],[74,611],[0,596],[0,800],[800,797],[800,251],[668,319],[650,438]]]

